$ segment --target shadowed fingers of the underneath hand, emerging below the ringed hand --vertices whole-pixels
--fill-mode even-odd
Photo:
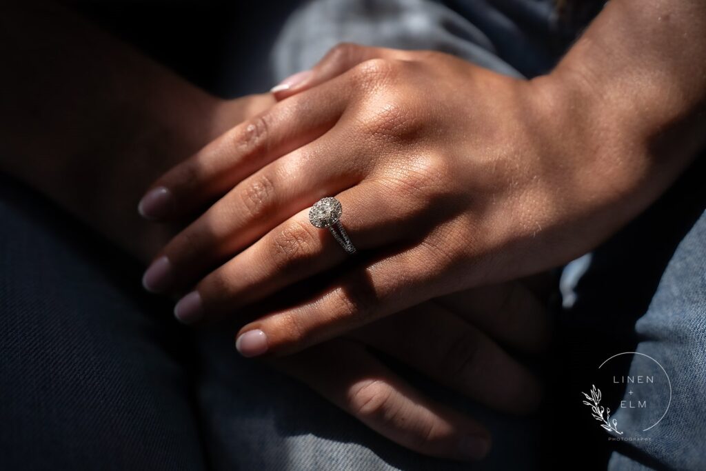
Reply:
[[[489,431],[467,414],[426,397],[374,352],[482,405],[523,414],[537,409],[542,386],[504,346],[537,354],[548,336],[543,304],[513,282],[434,299],[346,338],[267,361],[412,451],[477,460],[491,447]]]

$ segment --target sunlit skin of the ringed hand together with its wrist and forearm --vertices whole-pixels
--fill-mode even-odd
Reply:
[[[246,318],[253,302],[330,273],[313,296],[239,331],[241,353],[278,356],[569,261],[652,203],[704,145],[705,26],[701,1],[614,0],[532,81],[343,44],[275,88],[275,107],[153,184],[172,217],[220,198],[160,251],[159,289],[195,285],[176,306],[182,321]],[[308,224],[306,208],[330,195],[364,252],[353,263]]]

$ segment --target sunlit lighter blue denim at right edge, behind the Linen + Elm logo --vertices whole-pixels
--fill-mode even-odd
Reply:
[[[615,451],[609,470],[644,470],[652,463],[676,470],[705,470],[706,213],[676,249],[649,309],[635,323],[635,333],[639,338],[635,351],[659,359],[669,374],[671,405],[650,432],[652,439],[630,443],[633,450]],[[633,364],[629,374],[639,374],[635,370]],[[614,417],[630,427],[635,417],[623,412]],[[635,460],[631,451],[640,451],[650,460]]]

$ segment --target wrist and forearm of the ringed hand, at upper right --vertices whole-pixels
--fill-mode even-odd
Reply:
[[[533,81],[566,136],[563,159],[578,157],[572,166],[590,190],[612,187],[618,210],[645,208],[706,145],[706,75],[695,60],[703,13],[695,1],[610,2],[554,71]]]

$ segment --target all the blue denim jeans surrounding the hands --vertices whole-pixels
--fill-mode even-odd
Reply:
[[[273,76],[262,80],[269,85],[308,68],[340,41],[437,49],[532,76],[551,68],[568,44],[569,36],[556,35],[549,3],[309,2],[273,42]],[[550,37],[554,49],[542,47]],[[221,83],[218,91],[243,90]],[[239,357],[232,332],[179,325],[171,304],[142,292],[140,266],[3,177],[0,469],[535,469],[553,462],[557,448],[611,470],[704,469],[702,162],[565,277],[573,299],[558,313],[550,399],[539,413],[493,412],[404,371],[491,429],[493,451],[474,465],[382,439],[305,386]],[[651,442],[618,446],[575,425],[586,411],[573,393],[597,359],[622,349],[661,359],[674,384]]]

